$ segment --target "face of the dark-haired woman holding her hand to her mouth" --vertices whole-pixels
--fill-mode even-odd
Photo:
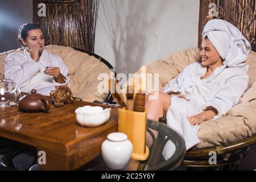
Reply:
[[[40,29],[30,30],[28,31],[28,36],[26,40],[22,39],[22,43],[29,50],[39,46],[41,48],[41,52],[44,49],[44,36],[43,32]]]

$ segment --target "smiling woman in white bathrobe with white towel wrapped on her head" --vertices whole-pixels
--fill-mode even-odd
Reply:
[[[199,124],[237,105],[249,82],[249,65],[243,61],[251,46],[242,33],[225,20],[213,19],[202,35],[201,63],[189,64],[164,93],[152,92],[146,101],[147,117],[158,121],[166,115],[167,125],[183,135],[187,150],[200,142]]]

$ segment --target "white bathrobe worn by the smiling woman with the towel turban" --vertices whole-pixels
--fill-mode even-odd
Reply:
[[[227,68],[226,65],[224,61],[224,65],[201,80],[207,67],[201,63],[190,64],[164,87],[165,93],[179,92],[189,99],[186,101],[172,96],[167,111],[167,125],[183,135],[187,150],[200,142],[196,135],[199,125],[192,127],[187,118],[201,113],[209,106],[218,111],[212,120],[220,118],[238,104],[247,89],[249,77],[246,72],[240,68]]]

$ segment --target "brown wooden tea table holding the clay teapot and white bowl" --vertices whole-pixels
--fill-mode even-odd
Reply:
[[[49,97],[48,97],[49,100]],[[91,105],[75,101],[48,113],[23,113],[18,108],[0,108],[0,137],[36,147],[46,152],[43,170],[74,170],[100,155],[101,144],[109,133],[117,131],[117,108],[108,122],[99,127],[81,127],[76,121],[77,107]]]

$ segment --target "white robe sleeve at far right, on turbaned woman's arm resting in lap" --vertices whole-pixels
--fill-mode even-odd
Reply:
[[[203,110],[212,106],[218,111],[218,114],[211,120],[222,117],[229,109],[238,104],[240,97],[247,89],[248,82],[249,77],[246,74],[234,76],[226,80],[225,85],[214,96],[213,101],[207,102],[203,106]]]

